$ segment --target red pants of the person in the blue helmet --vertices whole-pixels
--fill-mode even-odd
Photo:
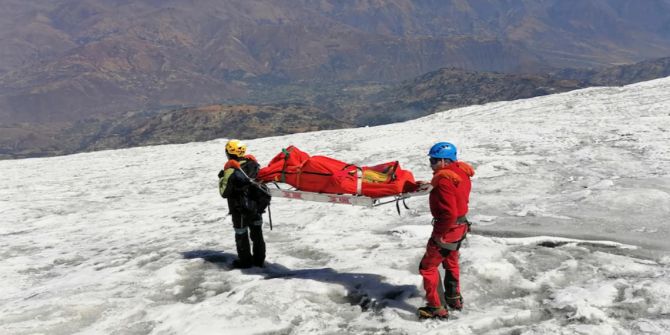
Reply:
[[[458,250],[441,249],[432,239],[428,241],[426,253],[421,259],[419,273],[423,276],[423,288],[426,290],[426,300],[429,306],[441,306],[437,292],[439,283],[438,266],[444,266],[444,294],[447,297],[457,297],[461,294],[459,283],[460,271],[458,268]]]

